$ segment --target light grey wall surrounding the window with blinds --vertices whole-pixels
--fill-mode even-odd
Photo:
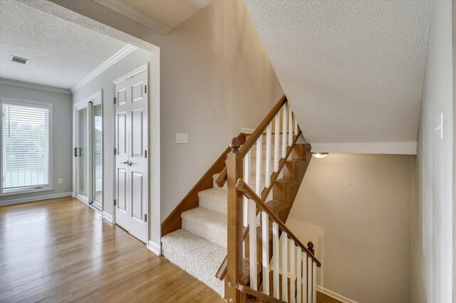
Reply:
[[[38,90],[36,88],[21,87],[17,85],[0,84],[0,96],[20,100],[38,101],[51,103],[53,105],[53,189],[52,191],[41,191],[38,193],[24,193],[20,195],[1,196],[2,203],[9,203],[10,200],[38,198],[40,196],[58,195],[71,193],[72,174],[71,161],[73,151],[72,138],[72,112],[71,95],[49,90]],[[57,184],[57,179],[62,178],[63,184]],[[11,201],[10,201],[11,202]]]

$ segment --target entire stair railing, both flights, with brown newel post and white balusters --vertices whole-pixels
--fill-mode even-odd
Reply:
[[[274,145],[272,144],[272,129],[274,127]],[[263,136],[266,134],[266,159],[265,159],[265,179],[262,180],[262,152],[263,152]],[[320,262],[316,260],[314,255],[312,255],[304,245],[301,245],[301,242],[292,234],[290,230],[286,228],[284,223],[272,213],[267,206],[264,205],[264,201],[269,195],[274,182],[280,174],[282,167],[284,166],[286,159],[289,157],[291,150],[296,144],[297,139],[301,135],[301,130],[299,125],[296,122],[294,113],[289,107],[289,103],[286,100],[285,95],[283,95],[280,100],[274,105],[272,110],[264,117],[257,129],[250,134],[247,141],[242,145],[239,143],[237,138],[232,140],[230,147],[232,151],[227,155],[227,166],[226,170],[222,171],[219,177],[216,180],[217,185],[223,185],[225,179],[227,180],[227,192],[228,192],[228,216],[227,216],[227,232],[228,232],[228,243],[227,243],[227,259],[225,264],[227,264],[227,275],[225,279],[225,297],[227,297],[228,302],[244,302],[247,296],[246,291],[242,289],[251,290],[250,293],[261,292],[262,294],[271,297],[271,300],[279,296],[279,292],[269,291],[269,272],[271,271],[274,275],[274,282],[276,281],[276,275],[279,275],[279,232],[283,233],[282,238],[282,267],[286,265],[284,272],[286,273],[285,278],[282,279],[283,289],[289,289],[290,293],[293,294],[290,296],[294,298],[290,302],[296,302],[298,294],[296,292],[295,283],[301,282],[304,274],[304,262],[299,259],[295,260],[295,256],[299,255],[301,258],[306,257],[306,260],[311,260],[309,263],[309,272],[306,272],[306,283],[309,284],[310,281],[315,281],[315,279],[309,279],[309,277],[314,277],[315,275],[315,266],[320,266]],[[280,139],[281,138],[281,139]],[[252,149],[256,145],[256,165],[254,174],[251,171],[251,160],[252,160]],[[274,147],[274,152],[272,152],[272,147]],[[271,165],[272,164],[272,165]],[[255,188],[249,187],[250,178],[254,177]],[[253,180],[252,180],[253,181]],[[239,188],[237,188],[237,185]],[[242,186],[241,186],[242,185]],[[260,198],[261,196],[261,198]],[[267,211],[266,211],[267,210]],[[258,216],[261,212],[261,216]],[[274,216],[271,216],[271,213]],[[272,220],[272,242],[273,242],[273,251],[269,252],[269,224],[265,222]],[[265,221],[266,220],[266,221]],[[263,223],[263,224],[261,224]],[[257,248],[257,226],[261,226],[261,245]],[[249,228],[249,226],[255,226],[255,228]],[[275,228],[275,229],[274,229]],[[275,232],[274,232],[275,230]],[[249,240],[247,241],[247,236]],[[276,240],[274,241],[274,237]],[[246,239],[244,243],[244,239]],[[290,242],[288,239],[291,239]],[[275,243],[275,244],[274,244]],[[296,244],[297,243],[297,244]],[[275,245],[275,246],[274,246]],[[288,248],[290,249],[290,254],[288,253]],[[297,245],[297,246],[296,246]],[[299,249],[298,249],[299,247]],[[245,250],[244,250],[245,248]],[[248,250],[248,251],[246,251]],[[291,255],[293,253],[294,255]],[[244,285],[242,283],[243,277],[243,263],[244,263],[244,254],[249,255],[249,285]],[[257,257],[260,255],[261,257]],[[293,257],[293,269],[290,272],[290,275],[287,274],[288,265],[287,260],[289,257]],[[273,268],[269,268],[269,262],[272,259]],[[277,259],[277,260],[276,260]],[[276,261],[274,261],[276,260]],[[290,262],[291,263],[291,262]],[[257,265],[260,264],[261,267]],[[296,265],[302,264],[303,267],[299,266],[301,269],[301,275],[297,277],[295,269]],[[306,262],[306,266],[308,263]],[[221,266],[221,268],[223,265]],[[261,275],[259,275],[259,268],[261,270]],[[307,267],[306,267],[307,268]],[[221,270],[219,270],[221,272]],[[219,277],[219,272],[217,276]],[[291,275],[292,274],[292,275]],[[286,277],[293,277],[288,279]],[[309,276],[309,277],[308,277]],[[279,277],[279,276],[277,276]],[[296,282],[294,277],[297,277]],[[287,282],[287,281],[290,282]],[[293,281],[291,281],[293,280]],[[290,285],[290,288],[286,285]],[[306,287],[299,287],[300,289],[308,289]],[[274,283],[274,290],[276,287],[279,287],[278,284]],[[293,292],[291,292],[293,291]],[[296,293],[296,297],[295,294]],[[301,292],[300,292],[301,293]],[[306,292],[311,296],[315,297],[315,291]],[[274,294],[274,297],[270,294]],[[308,301],[302,300],[303,293],[299,294],[301,298],[299,302],[315,302],[313,297],[309,297]],[[282,292],[282,299],[284,302],[288,302],[288,291]],[[306,298],[307,300],[307,298]]]

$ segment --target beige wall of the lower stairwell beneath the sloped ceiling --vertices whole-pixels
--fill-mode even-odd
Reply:
[[[415,156],[312,159],[286,225],[322,262],[317,285],[356,302],[408,302]]]

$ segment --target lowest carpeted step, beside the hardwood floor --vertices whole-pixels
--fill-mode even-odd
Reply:
[[[227,255],[226,248],[180,229],[162,237],[162,255],[223,296],[224,282],[215,274]]]

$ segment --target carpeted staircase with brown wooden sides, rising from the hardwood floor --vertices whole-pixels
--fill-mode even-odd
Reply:
[[[272,122],[273,119],[274,123]],[[273,127],[274,132],[272,132]],[[282,131],[282,129],[289,131]],[[236,250],[241,250],[242,255],[239,260],[242,264],[239,266],[241,272],[239,279],[237,279],[236,291],[244,294],[246,298],[248,296],[252,302],[257,299],[261,300],[261,296],[265,295],[257,293],[264,288],[260,287],[261,282],[263,282],[261,271],[264,270],[265,262],[261,262],[261,254],[264,253],[261,250],[269,251],[273,249],[274,245],[277,245],[273,241],[273,229],[268,227],[266,230],[262,230],[261,228],[259,222],[262,215],[261,208],[267,208],[266,211],[280,221],[281,228],[276,228],[275,231],[277,232],[280,229],[279,233],[282,233],[283,222],[289,215],[296,193],[311,160],[310,145],[304,142],[285,97],[279,100],[255,132],[253,134],[239,134],[237,138],[234,138],[231,148],[227,149],[217,159],[162,224],[162,255],[217,291],[222,297],[227,297],[225,291],[229,292],[234,289],[232,284],[229,286],[227,280],[227,273],[230,268],[228,266],[229,257],[227,257],[229,254],[227,233],[229,226],[227,222],[231,222],[228,218],[229,190],[237,192],[238,198],[242,197],[243,194],[245,198],[242,198],[241,204],[243,204],[244,215],[242,216],[243,226],[241,227],[242,241],[245,242],[244,245],[241,244],[240,247],[237,245],[236,248]],[[234,147],[233,144],[239,144],[239,146]],[[242,182],[237,183],[238,185],[245,184],[243,188],[249,188],[249,190],[256,188],[255,191],[252,190],[257,195],[255,197],[249,196],[247,198],[249,193],[244,193],[233,185],[229,187],[229,182],[226,182],[231,174],[229,165],[225,166],[227,151],[243,148],[246,151],[246,155],[242,159],[242,176],[244,178],[239,179]],[[221,169],[223,166],[224,168]],[[218,173],[213,174],[217,170]],[[248,202],[254,198],[259,200],[256,202],[261,203],[258,209],[252,204],[253,202]],[[254,215],[252,214],[254,209],[252,205],[255,208]],[[247,216],[247,214],[250,215]],[[259,214],[258,217],[257,214]],[[257,228],[249,230],[248,226],[252,223]],[[290,231],[286,234],[292,235]],[[261,243],[264,236],[267,240],[263,242],[263,249]],[[276,234],[276,238],[278,236],[279,234]],[[250,237],[252,240],[249,240]],[[257,240],[253,240],[255,238]],[[298,242],[299,240],[295,239],[295,243]],[[251,255],[254,257],[250,257]],[[269,257],[268,263],[270,261],[271,257]],[[272,273],[269,268],[266,270],[270,274]],[[279,274],[278,271],[277,274]],[[269,277],[269,274],[267,276]],[[253,288],[252,282],[255,284]],[[294,283],[288,284],[294,285]],[[257,296],[252,295],[252,293],[257,294]],[[276,296],[279,294],[277,293]]]

